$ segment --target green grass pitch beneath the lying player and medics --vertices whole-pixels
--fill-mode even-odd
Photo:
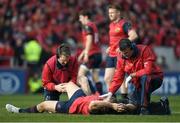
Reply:
[[[152,96],[153,101],[159,96]],[[66,99],[66,96],[63,96]],[[6,103],[19,107],[29,107],[43,100],[42,95],[0,95],[0,122],[180,122],[180,96],[169,96],[172,115],[139,116],[139,115],[70,115],[31,113],[14,114],[5,109]]]

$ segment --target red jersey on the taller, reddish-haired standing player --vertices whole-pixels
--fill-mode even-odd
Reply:
[[[109,56],[116,57],[119,41],[123,38],[127,38],[128,34],[124,31],[124,24],[126,20],[121,19],[117,23],[112,22],[109,25]]]

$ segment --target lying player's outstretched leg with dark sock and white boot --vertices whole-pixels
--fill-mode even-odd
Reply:
[[[12,112],[12,113],[41,113],[44,111],[56,112],[55,111],[56,104],[57,104],[57,101],[43,101],[39,103],[38,105],[28,107],[28,108],[18,108],[11,104],[6,104],[6,109],[8,112]]]

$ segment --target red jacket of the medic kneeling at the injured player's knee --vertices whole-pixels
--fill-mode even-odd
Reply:
[[[65,67],[58,68],[56,55],[52,56],[44,65],[42,71],[43,86],[47,90],[54,90],[54,86],[60,83],[72,81],[76,83],[78,62],[75,57],[70,57]]]

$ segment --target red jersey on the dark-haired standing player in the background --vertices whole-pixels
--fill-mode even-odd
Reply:
[[[83,47],[86,46],[86,36],[87,35],[93,36],[93,41],[92,41],[91,48],[89,50],[88,55],[91,56],[95,53],[100,53],[101,49],[99,46],[100,42],[99,42],[98,29],[93,22],[87,23],[87,25],[83,26],[83,28],[82,28]]]

